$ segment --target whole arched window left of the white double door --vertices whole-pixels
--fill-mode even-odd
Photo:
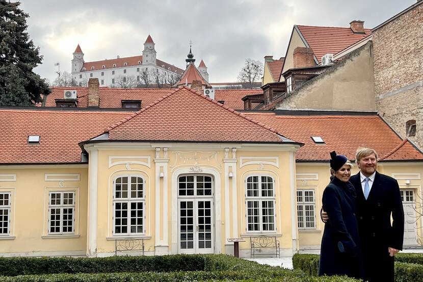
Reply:
[[[137,175],[119,176],[113,182],[113,234],[145,233],[144,179]]]

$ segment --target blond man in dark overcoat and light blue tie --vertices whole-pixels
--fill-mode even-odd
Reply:
[[[377,158],[374,149],[358,149],[356,163],[360,172],[351,176],[350,182],[357,193],[364,280],[393,282],[394,255],[403,248],[404,210],[398,182],[376,171]],[[324,213],[322,218],[327,218]]]

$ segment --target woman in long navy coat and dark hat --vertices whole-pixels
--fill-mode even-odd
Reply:
[[[363,278],[363,264],[356,219],[356,192],[349,182],[352,164],[347,157],[331,152],[334,176],[323,192],[325,224],[320,251],[319,275],[348,275]]]

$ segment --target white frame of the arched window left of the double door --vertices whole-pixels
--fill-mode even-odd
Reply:
[[[118,180],[118,178],[123,178],[123,177],[127,177],[128,181],[127,181],[127,197],[116,197],[116,181]],[[142,180],[142,197],[131,197],[131,181],[132,181],[132,177],[139,177]],[[145,204],[145,199],[146,199],[146,189],[145,189],[145,180],[144,177],[142,175],[135,175],[135,174],[131,174],[131,175],[119,175],[116,176],[113,180],[113,214],[112,214],[112,221],[113,221],[113,230],[112,230],[112,234],[113,236],[134,236],[134,235],[145,235],[145,230],[146,230],[146,204]],[[115,221],[115,217],[116,217],[116,203],[126,203],[127,204],[127,217],[126,217],[126,233],[116,233],[116,221]],[[131,214],[131,203],[141,203],[142,205],[142,220],[143,220],[143,224],[142,224],[142,232],[130,232],[130,214]],[[120,225],[120,226],[124,226],[124,225]]]

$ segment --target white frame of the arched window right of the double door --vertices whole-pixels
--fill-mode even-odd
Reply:
[[[248,180],[250,177],[258,177],[258,196],[248,196]],[[272,180],[272,196],[262,196],[261,192],[261,184],[262,180],[261,177],[270,177]],[[277,232],[277,225],[276,225],[276,189],[275,189],[275,178],[269,174],[251,174],[247,175],[245,178],[245,221],[246,221],[246,233],[276,233]],[[249,221],[248,221],[248,202],[258,201],[258,230],[249,230]],[[273,230],[263,230],[263,202],[272,201],[273,202]]]

